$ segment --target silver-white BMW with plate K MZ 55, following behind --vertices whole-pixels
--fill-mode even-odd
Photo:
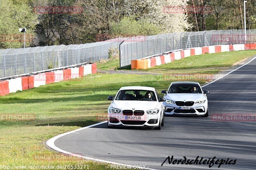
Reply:
[[[197,82],[173,82],[164,93],[165,115],[198,115],[208,117],[208,90]]]

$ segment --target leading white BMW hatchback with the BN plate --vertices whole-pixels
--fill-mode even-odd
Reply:
[[[111,126],[143,126],[161,129],[164,126],[164,98],[153,87],[121,87],[108,107],[108,128]]]

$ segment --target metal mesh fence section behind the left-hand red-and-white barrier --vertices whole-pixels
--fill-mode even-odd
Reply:
[[[0,49],[0,78],[108,59],[119,42]]]

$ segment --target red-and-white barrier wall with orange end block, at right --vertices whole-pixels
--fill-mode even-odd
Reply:
[[[179,60],[192,55],[201,55],[205,53],[220,53],[226,51],[240,51],[240,50],[252,50],[256,49],[256,43],[254,44],[234,44],[234,45],[217,45],[207,47],[189,48],[180,51],[166,53],[164,55],[157,55],[152,57],[145,57],[139,60],[132,60],[132,69],[148,69],[157,65],[171,63],[174,60]]]

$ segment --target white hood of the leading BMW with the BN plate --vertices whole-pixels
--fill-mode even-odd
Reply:
[[[114,100],[112,107],[114,108],[141,108],[141,109],[155,109],[158,101],[132,101],[132,100]]]

